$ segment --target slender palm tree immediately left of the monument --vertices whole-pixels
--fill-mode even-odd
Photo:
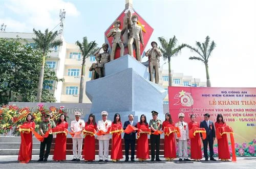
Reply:
[[[88,43],[87,37],[83,37],[82,43],[78,40],[76,41],[76,45],[79,47],[82,53],[82,71],[81,71],[81,79],[80,79],[80,89],[79,89],[79,103],[82,103],[83,98],[83,89],[84,89],[84,75],[86,71],[86,58],[91,56],[97,50],[97,43],[95,41],[91,41]]]

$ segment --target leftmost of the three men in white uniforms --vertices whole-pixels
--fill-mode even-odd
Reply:
[[[72,138],[73,142],[73,159],[71,161],[80,161],[81,152],[82,152],[82,129],[86,124],[83,119],[80,119],[81,113],[76,111],[75,120],[71,122],[71,131],[75,133]],[[76,149],[77,148],[77,149]]]

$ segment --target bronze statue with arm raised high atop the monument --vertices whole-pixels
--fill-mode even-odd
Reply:
[[[141,56],[140,56],[140,43],[144,47],[144,42],[143,42],[143,36],[142,36],[142,29],[141,27],[137,24],[138,22],[138,16],[133,15],[132,16],[132,24],[131,24],[131,12],[129,11],[127,13],[128,16],[128,25],[127,29],[129,30],[129,39],[128,39],[128,52],[129,55],[133,56],[133,44],[135,44],[135,51],[136,51],[136,59],[141,62]]]

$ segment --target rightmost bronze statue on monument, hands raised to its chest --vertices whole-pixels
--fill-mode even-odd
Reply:
[[[162,56],[161,51],[157,48],[157,42],[151,42],[152,49],[146,52],[146,56],[148,57],[149,67],[150,67],[150,81],[153,80],[153,73],[155,73],[155,83],[159,83],[159,61]],[[155,71],[155,72],[154,72]]]

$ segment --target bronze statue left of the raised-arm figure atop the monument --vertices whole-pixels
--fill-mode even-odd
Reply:
[[[119,29],[121,25],[120,20],[116,20],[114,22],[114,28],[110,30],[110,32],[106,35],[106,37],[111,37],[113,36],[113,40],[112,40],[112,52],[111,52],[111,56],[110,56],[110,61],[115,59],[115,53],[116,53],[116,48],[117,45],[119,45],[120,47],[120,57],[123,56],[123,52],[124,52],[124,46],[123,46],[123,42],[121,39],[121,32],[122,30]]]

